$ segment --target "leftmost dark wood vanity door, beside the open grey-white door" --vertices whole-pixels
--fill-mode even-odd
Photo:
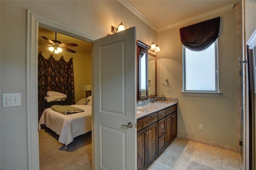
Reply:
[[[137,133],[137,169],[146,168],[146,130]]]

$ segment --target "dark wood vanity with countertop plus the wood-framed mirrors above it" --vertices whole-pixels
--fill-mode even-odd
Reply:
[[[141,103],[137,105],[138,170],[146,169],[177,136],[177,102],[154,100],[158,98],[156,62],[150,46],[138,40],[137,102]]]

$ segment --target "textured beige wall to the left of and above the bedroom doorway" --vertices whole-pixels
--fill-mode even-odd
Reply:
[[[21,93],[20,107],[0,108],[1,169],[26,170],[28,169],[27,9],[98,37],[110,34],[111,26],[118,26],[121,21],[126,28],[136,26],[137,39],[145,43],[156,41],[157,34],[115,0],[1,0],[0,8],[0,91],[1,94]]]

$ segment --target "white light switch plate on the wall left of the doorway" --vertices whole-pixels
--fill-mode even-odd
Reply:
[[[21,106],[20,93],[15,94],[3,94],[2,95],[2,106],[3,108]]]

